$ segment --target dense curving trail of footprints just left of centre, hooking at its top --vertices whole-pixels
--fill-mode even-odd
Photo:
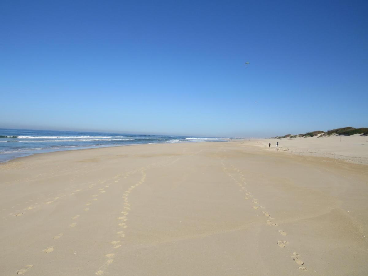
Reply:
[[[130,188],[128,188],[126,191],[124,191],[124,194],[123,194],[123,208],[120,212],[120,216],[118,216],[116,219],[117,219],[117,226],[118,226],[118,231],[116,232],[116,237],[117,237],[117,240],[114,240],[114,241],[111,241],[110,244],[112,246],[113,249],[117,249],[119,247],[121,247],[121,240],[118,240],[120,238],[124,238],[125,237],[125,232],[123,229],[126,229],[128,226],[127,226],[127,220],[128,220],[128,215],[129,215],[129,211],[131,210],[131,204],[130,204],[130,201],[129,201],[129,195],[131,194],[131,192],[136,188],[138,187],[139,185],[141,185],[142,183],[144,183],[145,181],[145,178],[146,178],[146,173],[145,171],[142,169],[141,171],[139,171],[141,174],[142,174],[142,177],[141,179],[139,180],[139,182],[135,185],[132,185],[130,186]],[[130,173],[130,174],[126,174],[125,177],[128,177],[130,176],[131,174],[134,174],[134,173]],[[105,257],[107,258],[107,260],[105,261],[105,263],[103,263],[102,266],[99,267],[99,270],[96,271],[96,275],[103,275],[105,273],[105,270],[107,268],[107,266],[109,266],[113,261],[113,257],[115,256],[114,253],[109,253],[109,254],[106,254]]]

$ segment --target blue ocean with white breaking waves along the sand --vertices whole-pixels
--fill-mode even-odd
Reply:
[[[107,146],[229,141],[229,138],[0,128],[0,162],[35,153]]]

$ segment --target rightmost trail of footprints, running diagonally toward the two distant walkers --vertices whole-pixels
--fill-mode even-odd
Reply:
[[[223,165],[223,170],[224,170],[224,172],[229,176],[229,177],[231,177],[233,180],[234,180],[234,182],[240,187],[240,192],[244,192],[244,194],[245,194],[245,197],[244,197],[244,199],[246,199],[246,200],[248,200],[248,199],[252,199],[252,203],[254,204],[253,206],[252,206],[252,208],[254,209],[254,210],[259,210],[260,208],[261,209],[265,209],[265,207],[263,207],[263,206],[260,206],[260,204],[259,204],[259,202],[257,201],[257,199],[255,199],[254,198],[254,195],[252,195],[252,193],[251,192],[249,192],[248,190],[247,190],[247,188],[245,187],[245,185],[247,184],[247,182],[245,182],[245,178],[244,178],[244,175],[243,175],[243,173],[240,171],[240,170],[238,170],[236,167],[234,167],[233,165],[230,165],[231,166],[231,169],[233,169],[234,171],[236,171],[238,174],[239,174],[239,176],[240,176],[240,179],[241,179],[241,181],[242,181],[242,183],[241,182],[239,182],[230,172],[229,172],[229,170],[227,169],[227,167],[225,166],[225,164],[224,164],[224,162],[222,161],[222,165]],[[266,224],[267,225],[270,225],[270,226],[277,226],[277,223],[275,223],[274,222],[274,220],[275,220],[275,218],[273,218],[273,217],[271,217],[271,215],[268,213],[268,212],[266,212],[265,210],[262,210],[262,214],[264,215],[264,216],[266,216],[267,218],[268,218],[268,220],[266,220]],[[277,230],[276,231],[277,233],[280,233],[280,235],[282,235],[282,236],[287,236],[287,233],[285,232],[285,231],[283,231],[283,230]],[[286,247],[286,245],[288,244],[288,242],[287,241],[277,241],[277,245],[280,247],[280,248],[285,248]],[[293,259],[293,261],[294,262],[296,262],[298,265],[304,265],[304,262],[300,259],[300,254],[298,254],[297,252],[293,252],[293,254],[291,255],[291,258]],[[302,267],[302,266],[300,266],[299,267],[299,269],[300,270],[302,270],[302,271],[307,271],[307,268],[305,268],[305,267]]]

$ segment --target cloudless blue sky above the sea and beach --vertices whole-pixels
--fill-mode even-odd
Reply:
[[[367,14],[368,1],[3,0],[0,127],[368,127]]]

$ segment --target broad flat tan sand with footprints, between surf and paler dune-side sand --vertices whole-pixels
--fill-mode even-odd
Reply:
[[[258,142],[0,164],[0,275],[367,275],[367,165]]]

